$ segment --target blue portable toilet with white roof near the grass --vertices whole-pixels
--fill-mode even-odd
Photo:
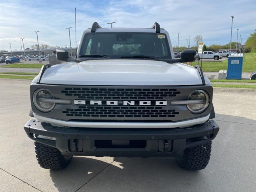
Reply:
[[[228,56],[227,79],[242,79],[243,58],[242,53]]]

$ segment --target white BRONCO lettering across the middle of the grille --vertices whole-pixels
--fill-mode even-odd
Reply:
[[[167,105],[167,101],[74,100],[75,105]]]

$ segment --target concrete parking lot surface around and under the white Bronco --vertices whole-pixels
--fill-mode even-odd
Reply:
[[[254,192],[255,92],[214,92],[216,122],[210,163],[187,171],[174,158],[74,156],[64,170],[40,168],[23,126],[30,119],[30,80],[0,79],[0,191],[2,192]]]

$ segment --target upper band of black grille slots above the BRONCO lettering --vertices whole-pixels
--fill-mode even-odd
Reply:
[[[180,94],[176,89],[168,88],[64,88],[61,93],[78,99],[99,100],[162,100]]]

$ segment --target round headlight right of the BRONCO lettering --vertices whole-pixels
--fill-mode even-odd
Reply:
[[[187,104],[188,110],[196,114],[204,112],[210,103],[209,95],[203,90],[193,91],[188,97],[188,100],[198,100],[197,104]]]

